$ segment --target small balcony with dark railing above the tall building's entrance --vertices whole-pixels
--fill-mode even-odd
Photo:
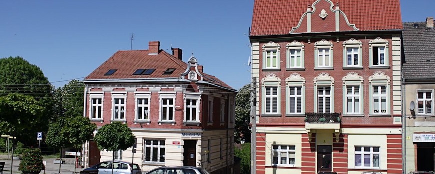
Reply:
[[[305,128],[340,129],[341,113],[306,113]]]

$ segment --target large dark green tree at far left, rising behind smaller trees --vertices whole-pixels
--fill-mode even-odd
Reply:
[[[37,132],[45,132],[48,127],[47,123],[53,121],[53,87],[44,76],[43,72],[36,65],[30,64],[22,57],[8,57],[0,59],[0,96],[7,96],[11,93],[19,93],[27,96],[31,96],[33,100],[37,101],[39,106],[42,106],[42,112],[40,116],[29,119],[32,125],[26,128],[25,132],[22,132],[17,139],[25,145],[31,145],[36,143],[34,135]],[[38,112],[39,113],[39,112]],[[31,117],[32,113],[29,116]],[[20,117],[21,117],[20,116]],[[3,126],[15,126],[12,123],[22,122],[18,117],[12,117],[8,120],[2,120]],[[7,129],[14,129],[9,127]]]

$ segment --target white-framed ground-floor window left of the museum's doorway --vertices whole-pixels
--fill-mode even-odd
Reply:
[[[165,140],[144,139],[144,162],[160,163],[165,159]]]

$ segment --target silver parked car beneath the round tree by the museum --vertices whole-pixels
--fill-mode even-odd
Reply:
[[[92,173],[98,170],[98,174],[111,174],[112,161],[103,161],[95,166],[86,168],[83,173]],[[114,161],[113,174],[142,174],[139,165],[130,162]]]

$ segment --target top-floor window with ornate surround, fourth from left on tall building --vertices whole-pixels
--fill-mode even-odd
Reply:
[[[347,52],[348,49],[352,50],[350,54]],[[356,51],[354,49],[356,49]],[[348,64],[348,55],[351,55],[351,65]],[[358,56],[357,64],[355,64],[354,61],[355,55]],[[360,40],[351,38],[343,42],[343,68],[362,69],[362,42]]]

